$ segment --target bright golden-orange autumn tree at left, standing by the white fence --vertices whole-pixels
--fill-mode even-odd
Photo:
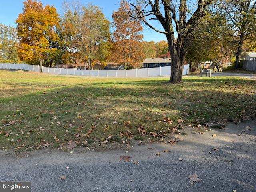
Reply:
[[[42,60],[51,51],[50,41],[57,41],[56,26],[59,18],[54,6],[43,6],[42,2],[26,0],[23,12],[16,20],[17,34],[20,38],[18,55],[28,63],[39,61],[42,72]]]

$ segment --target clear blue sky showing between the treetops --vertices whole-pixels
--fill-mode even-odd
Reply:
[[[24,0],[0,0],[0,23],[5,25],[16,26],[15,20],[19,13],[22,12]],[[62,14],[61,5],[62,0],[41,0],[44,5],[50,4],[54,5],[59,14]],[[92,2],[94,5],[100,6],[102,8],[103,13],[108,18],[108,20],[112,21],[112,12],[113,10],[118,9],[119,0],[81,0],[83,4],[87,4],[88,2]],[[160,28],[160,24],[154,25],[156,28]],[[143,31],[144,40],[145,41],[160,41],[166,40],[164,34],[160,34],[155,32],[148,27],[144,27]]]

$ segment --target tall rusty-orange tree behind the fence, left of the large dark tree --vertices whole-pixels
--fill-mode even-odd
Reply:
[[[120,8],[112,14],[115,28],[112,60],[123,64],[125,68],[135,68],[142,64],[144,57],[141,44],[143,35],[140,34],[143,28],[140,21],[129,17],[127,14],[129,10],[128,2],[122,0]]]

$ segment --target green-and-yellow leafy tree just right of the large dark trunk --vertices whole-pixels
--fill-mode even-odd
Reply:
[[[216,63],[219,64],[220,57],[224,56],[224,48],[229,51],[232,49],[231,46],[228,46],[230,44],[228,41],[230,36],[226,34],[229,31],[226,25],[226,18],[221,14],[211,11],[206,12],[198,28],[200,30],[193,34],[192,44],[188,47],[186,54],[186,61],[193,65],[192,67],[196,71],[199,64],[205,60],[218,60]],[[230,56],[230,54],[226,56]],[[219,69],[218,66],[217,68]]]

